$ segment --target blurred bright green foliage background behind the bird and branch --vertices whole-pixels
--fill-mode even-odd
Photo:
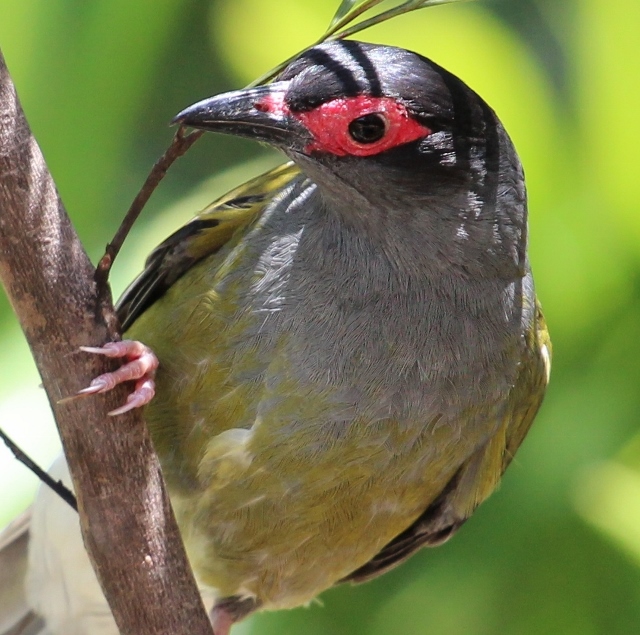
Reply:
[[[0,47],[96,260],[184,106],[317,38],[336,0],[0,0]],[[637,633],[640,625],[640,3],[486,0],[365,32],[460,75],[498,111],[530,192],[531,260],[554,343],[548,397],[501,489],[445,546],[240,632]],[[116,293],[214,194],[278,160],[200,141],[135,229]],[[215,176],[212,176],[215,175]],[[57,452],[39,380],[0,298],[0,425]],[[34,479],[0,449],[0,526]]]

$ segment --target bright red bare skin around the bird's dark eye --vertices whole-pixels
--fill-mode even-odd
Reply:
[[[431,130],[412,119],[406,107],[392,97],[344,97],[327,101],[313,110],[291,112],[282,95],[269,97],[255,104],[263,112],[298,119],[313,135],[305,151],[324,152],[336,156],[368,157],[396,146],[422,139]],[[381,115],[386,123],[385,134],[373,143],[360,143],[349,134],[349,124],[364,115]]]

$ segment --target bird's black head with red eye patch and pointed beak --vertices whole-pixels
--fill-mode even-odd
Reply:
[[[449,263],[497,250],[494,267],[522,267],[524,181],[511,141],[475,92],[416,53],[325,43],[273,83],[205,99],[174,121],[281,148],[338,207],[417,217]]]

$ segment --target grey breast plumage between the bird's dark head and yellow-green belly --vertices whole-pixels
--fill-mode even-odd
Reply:
[[[260,347],[286,332],[297,379],[339,388],[374,418],[502,401],[533,319],[524,263],[523,275],[469,275],[431,240],[432,210],[416,211],[396,222],[368,207],[363,220],[301,177],[246,238]]]

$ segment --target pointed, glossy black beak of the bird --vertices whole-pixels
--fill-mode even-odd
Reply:
[[[285,105],[288,87],[289,82],[274,82],[216,95],[185,108],[171,123],[303,150],[311,136]]]

